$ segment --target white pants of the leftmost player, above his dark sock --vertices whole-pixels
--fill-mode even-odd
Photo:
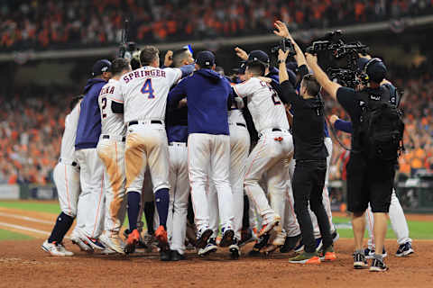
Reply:
[[[73,160],[61,158],[53,171],[54,184],[59,196],[60,209],[72,218],[77,216],[79,187],[79,166],[72,166]]]

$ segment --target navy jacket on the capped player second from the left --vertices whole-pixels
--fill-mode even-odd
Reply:
[[[77,137],[75,149],[97,148],[97,142],[101,135],[101,112],[97,103],[97,97],[102,86],[106,85],[104,79],[88,79],[84,88],[86,94],[81,101]]]

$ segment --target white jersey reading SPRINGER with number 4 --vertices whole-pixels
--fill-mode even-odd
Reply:
[[[170,87],[182,76],[179,68],[141,67],[120,78],[124,122],[165,118]]]

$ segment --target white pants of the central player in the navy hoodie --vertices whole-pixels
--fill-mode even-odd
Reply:
[[[221,225],[225,229],[233,229],[233,193],[229,181],[230,137],[189,134],[188,159],[191,199],[198,230],[209,227],[207,180],[217,189]]]

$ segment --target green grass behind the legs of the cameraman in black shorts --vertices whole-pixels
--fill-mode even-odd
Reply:
[[[335,224],[350,224],[350,218],[346,217],[333,217],[332,221]],[[408,220],[409,236],[412,239],[433,239],[433,225],[428,221],[410,221]],[[340,237],[353,238],[354,232],[352,229],[337,229]],[[368,232],[365,230],[365,238],[368,238]],[[394,231],[391,228],[390,221],[388,220],[388,231],[386,238],[396,238]]]

